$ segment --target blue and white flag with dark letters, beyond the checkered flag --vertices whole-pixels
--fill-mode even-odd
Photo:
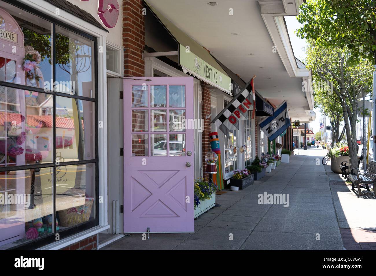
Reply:
[[[283,103],[274,109],[273,116],[265,117],[259,122],[259,126],[270,141],[273,141],[287,130],[291,126],[291,121],[290,116],[288,116],[286,101],[283,101]]]

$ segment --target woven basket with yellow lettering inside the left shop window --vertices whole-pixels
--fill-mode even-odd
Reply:
[[[85,205],[58,211],[60,218],[59,224],[61,226],[69,227],[82,222],[87,222],[90,218],[93,203],[94,198],[86,198]]]

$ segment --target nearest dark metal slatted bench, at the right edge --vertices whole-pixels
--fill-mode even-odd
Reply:
[[[356,173],[357,171],[357,173]],[[376,188],[376,161],[371,160],[368,164],[368,170],[354,168],[351,170],[348,179],[351,181],[352,190],[355,190],[355,186],[358,188],[358,198],[359,196],[364,195],[361,191],[361,188],[367,189],[366,194],[370,193],[370,188],[368,184],[373,184],[373,194],[375,194]],[[365,187],[361,184],[365,184]]]

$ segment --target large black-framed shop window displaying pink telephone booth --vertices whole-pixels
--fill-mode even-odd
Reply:
[[[36,248],[98,223],[94,38],[0,7],[0,249]]]

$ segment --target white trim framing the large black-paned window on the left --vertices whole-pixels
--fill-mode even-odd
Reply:
[[[27,6],[30,6],[30,0],[19,0],[19,2],[24,3]],[[49,15],[50,17],[56,17],[56,6],[45,2],[44,0],[33,0],[33,8],[38,11]],[[98,173],[99,173],[99,196],[103,196],[103,202],[107,202],[107,81],[106,81],[106,39],[107,32],[102,30],[87,21],[77,18],[73,14],[66,12],[60,9],[59,20],[72,26],[76,29],[82,30],[82,32],[88,33],[97,38],[98,45],[103,45],[103,53],[98,53],[98,118],[99,121],[103,122],[103,127],[98,129],[98,143],[101,145],[96,152],[99,164],[98,164]],[[120,24],[120,22],[118,22]],[[97,234],[97,231],[103,231],[109,227],[107,218],[108,210],[107,204],[99,204],[99,226],[88,229],[84,231],[88,237],[90,235]],[[101,227],[102,226],[102,227]],[[72,239],[84,239],[80,234],[74,234],[66,239],[61,240],[61,242],[67,242],[67,244],[72,244]],[[61,247],[55,246],[56,243],[51,244],[50,250],[59,249]]]

